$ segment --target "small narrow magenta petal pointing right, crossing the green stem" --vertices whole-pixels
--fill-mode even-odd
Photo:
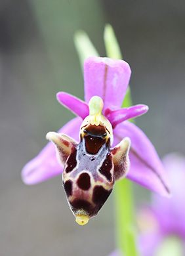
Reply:
[[[112,127],[114,128],[119,123],[131,119],[133,117],[141,116],[148,111],[148,106],[138,104],[130,108],[120,108],[119,110],[109,110],[105,112],[105,116],[109,119]]]

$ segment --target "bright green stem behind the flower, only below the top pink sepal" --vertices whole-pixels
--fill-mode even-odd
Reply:
[[[122,107],[129,107],[131,105],[131,91],[128,88]],[[123,179],[116,182],[114,195],[117,248],[121,256],[137,256],[139,253],[136,247],[134,197],[131,181]]]

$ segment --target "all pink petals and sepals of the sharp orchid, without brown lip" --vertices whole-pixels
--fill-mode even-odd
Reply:
[[[64,133],[79,141],[79,128],[83,119],[89,115],[89,100],[94,95],[100,96],[104,102],[102,113],[113,127],[113,146],[124,137],[131,139],[131,167],[127,178],[168,196],[169,184],[165,169],[154,146],[136,125],[127,121],[146,113],[148,106],[139,104],[121,108],[130,76],[129,64],[123,60],[96,56],[87,58],[84,63],[85,102],[68,93],[60,92],[56,95],[61,104],[78,116],[64,125],[58,133]],[[56,160],[54,145],[49,142],[36,158],[25,165],[22,179],[26,184],[36,184],[61,173],[62,167]]]

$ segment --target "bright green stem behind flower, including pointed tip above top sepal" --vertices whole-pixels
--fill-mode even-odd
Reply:
[[[104,30],[104,43],[109,58],[123,59],[115,33],[113,32],[112,26],[109,24],[106,25]],[[127,89],[122,108],[128,108],[129,106],[132,106],[130,87]],[[122,179],[121,181],[115,182],[114,196],[117,248],[119,249],[121,256],[139,255],[136,248],[134,198],[131,181]]]

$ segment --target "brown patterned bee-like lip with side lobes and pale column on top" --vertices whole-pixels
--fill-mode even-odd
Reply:
[[[110,196],[113,184],[129,170],[130,139],[111,148],[112,125],[102,115],[103,101],[93,96],[89,116],[80,128],[80,142],[64,134],[47,133],[56,145],[58,160],[64,165],[62,181],[66,198],[78,224],[88,223]]]

